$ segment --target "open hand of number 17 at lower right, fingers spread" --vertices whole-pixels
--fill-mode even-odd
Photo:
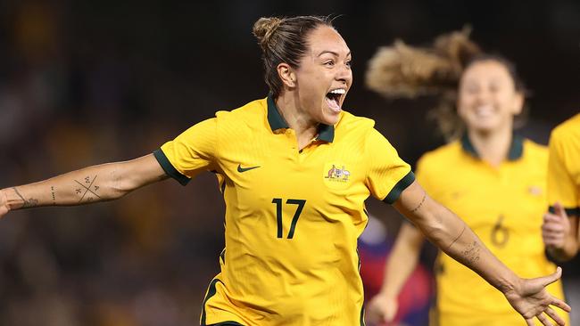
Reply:
[[[519,284],[510,289],[504,295],[510,301],[510,305],[521,314],[528,326],[534,326],[534,317],[543,325],[553,326],[548,316],[556,322],[556,325],[563,326],[566,323],[559,317],[551,306],[570,312],[571,308],[564,301],[551,296],[545,287],[554,281],[558,281],[562,275],[562,269],[558,267],[555,273],[536,279],[521,279]]]

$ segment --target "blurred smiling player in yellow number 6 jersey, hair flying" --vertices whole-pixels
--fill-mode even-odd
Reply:
[[[394,53],[400,56],[396,62],[401,66],[394,64]],[[413,70],[407,67],[415,62],[413,56],[431,60],[423,58],[420,62],[424,66]],[[435,92],[438,86],[447,94],[438,108],[447,114],[440,119],[446,124],[442,129],[451,137],[462,134],[419,159],[418,182],[434,200],[462,216],[485,246],[519,275],[536,277],[556,269],[544,255],[541,232],[548,151],[513,133],[514,119],[522,112],[525,97],[514,66],[499,56],[479,53],[466,34],[454,33],[439,38],[435,50],[399,44],[377,53],[369,71],[369,85],[378,91],[396,92],[385,78],[395,67],[408,71],[405,80],[414,80],[412,87],[418,92],[426,87]],[[378,77],[384,77],[381,83],[376,82]],[[459,84],[457,100],[449,102],[452,97],[445,90],[454,82]],[[450,113],[456,117],[449,117]],[[458,124],[450,125],[450,121]],[[369,304],[369,318],[394,318],[397,295],[417,264],[423,239],[412,225],[402,225],[387,262],[383,288]],[[499,292],[444,252],[437,258],[435,275],[433,325],[521,324]],[[563,298],[559,281],[548,291]],[[559,315],[568,320],[567,314]],[[555,314],[551,317],[556,319]]]

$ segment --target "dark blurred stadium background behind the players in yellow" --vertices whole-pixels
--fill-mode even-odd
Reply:
[[[433,101],[387,102],[363,83],[377,46],[397,37],[427,44],[470,24],[485,50],[517,63],[532,91],[521,132],[540,143],[580,110],[576,0],[4,0],[0,187],[136,158],[216,110],[264,97],[253,22],[330,13],[342,14],[336,26],[353,53],[346,110],[376,119],[411,163],[443,143],[425,118]],[[10,213],[0,222],[0,325],[196,324],[219,267],[223,210],[207,174],[116,202]],[[376,200],[369,210],[392,240],[401,217]],[[565,267],[568,296],[578,296],[577,260]]]

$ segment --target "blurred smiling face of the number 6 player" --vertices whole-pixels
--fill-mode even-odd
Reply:
[[[512,127],[524,105],[508,69],[499,61],[476,61],[460,80],[458,113],[468,130],[493,132]]]

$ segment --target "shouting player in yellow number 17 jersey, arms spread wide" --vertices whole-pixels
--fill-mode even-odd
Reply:
[[[220,111],[151,155],[87,167],[4,189],[2,213],[122,197],[168,175],[187,183],[218,175],[226,202],[221,272],[203,301],[202,325],[363,324],[356,240],[364,200],[394,204],[450,256],[482,275],[528,323],[569,310],[544,287],[519,278],[459,217],[431,200],[410,166],[373,127],[342,110],[352,85],[351,52],[331,22],[261,18],[267,98]]]

